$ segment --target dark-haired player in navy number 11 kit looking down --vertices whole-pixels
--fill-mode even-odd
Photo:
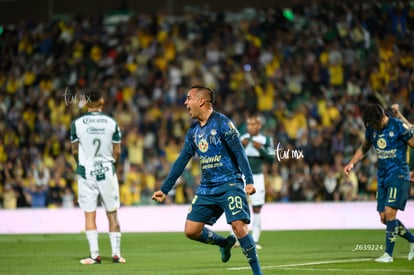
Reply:
[[[365,139],[345,165],[349,176],[355,164],[374,146],[378,157],[377,211],[386,225],[385,253],[376,262],[393,262],[393,250],[397,236],[410,243],[408,260],[414,258],[414,235],[397,219],[398,210],[404,210],[408,199],[410,176],[407,163],[407,145],[414,147],[414,129],[402,121],[385,114],[379,104],[368,105],[363,112],[366,127]]]

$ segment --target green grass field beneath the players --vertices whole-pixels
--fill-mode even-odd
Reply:
[[[99,244],[102,264],[83,266],[79,260],[88,256],[84,234],[0,235],[0,273],[251,274],[239,247],[223,264],[218,247],[190,241],[183,233],[124,233],[126,264],[111,263],[108,234],[100,234]],[[265,231],[261,244],[264,274],[414,274],[402,238],[395,246],[394,263],[373,261],[383,253],[383,230]],[[358,245],[360,250],[353,251]]]

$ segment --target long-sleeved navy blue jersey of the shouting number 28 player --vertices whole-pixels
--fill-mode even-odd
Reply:
[[[161,191],[167,194],[183,172],[188,161],[200,157],[201,182],[197,194],[211,195],[229,182],[253,183],[253,175],[246,153],[240,142],[240,133],[224,114],[213,111],[206,125],[196,122],[187,131],[183,149],[172,165]]]

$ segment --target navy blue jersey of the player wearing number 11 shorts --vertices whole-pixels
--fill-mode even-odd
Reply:
[[[374,146],[378,157],[379,184],[397,173],[409,179],[407,141],[412,136],[413,131],[393,117],[389,117],[388,124],[382,130],[366,129],[365,138]]]

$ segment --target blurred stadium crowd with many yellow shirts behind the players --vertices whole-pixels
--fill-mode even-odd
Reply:
[[[191,125],[186,87],[209,85],[216,109],[245,131],[259,112],[275,141],[267,201],[373,200],[375,154],[349,178],[361,108],[399,103],[414,121],[414,8],[406,1],[319,2],[288,9],[135,14],[25,21],[0,35],[0,202],[76,207],[71,120],[82,92],[101,87],[123,133],[125,206],[151,204]],[[167,203],[188,203],[193,161]],[[411,192],[414,197],[414,190]]]

